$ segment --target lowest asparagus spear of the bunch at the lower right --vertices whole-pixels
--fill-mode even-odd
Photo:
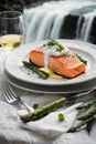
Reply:
[[[77,124],[76,126],[71,127],[67,132],[76,132],[77,130],[79,130],[81,127],[85,126],[87,123],[92,122],[93,120],[96,120],[96,114],[92,115],[89,119],[81,122],[79,124]]]

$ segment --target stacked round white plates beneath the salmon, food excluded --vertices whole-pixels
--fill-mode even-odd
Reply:
[[[58,40],[75,53],[78,53],[87,60],[86,73],[74,79],[47,80],[40,79],[36,74],[30,72],[22,64],[23,59],[28,60],[28,53],[38,45],[46,41],[39,41],[21,45],[14,50],[7,59],[4,73],[7,79],[15,86],[24,90],[41,93],[72,93],[89,90],[96,84],[96,47],[87,42],[76,40]]]

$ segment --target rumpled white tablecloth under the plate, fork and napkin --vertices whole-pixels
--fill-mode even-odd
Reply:
[[[3,62],[8,55],[8,51],[0,48],[0,79],[3,79]],[[15,93],[29,104],[39,103],[44,105],[63,95],[31,93],[13,88]],[[86,99],[95,97],[96,91]],[[83,100],[85,100],[83,97]],[[76,100],[78,101],[78,100]],[[47,138],[33,131],[21,128],[17,120],[17,111],[19,107],[9,105],[0,90],[0,144],[96,144],[96,123],[94,123],[90,133],[82,130],[76,133],[62,134],[55,138]],[[12,116],[11,116],[12,115]]]

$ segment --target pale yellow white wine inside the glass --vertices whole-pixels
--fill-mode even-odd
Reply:
[[[19,34],[7,34],[0,37],[0,45],[9,49],[18,48],[23,41],[22,35]]]

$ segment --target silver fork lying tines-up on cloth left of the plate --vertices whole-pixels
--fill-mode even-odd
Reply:
[[[28,105],[25,102],[23,102],[20,96],[18,96],[15,94],[15,92],[12,90],[11,85],[9,84],[9,82],[7,82],[6,80],[1,81],[1,92],[6,99],[6,101],[9,103],[9,104],[15,104],[15,103],[21,103],[23,104],[26,110],[29,112],[33,112],[34,109],[32,109],[30,105]]]

